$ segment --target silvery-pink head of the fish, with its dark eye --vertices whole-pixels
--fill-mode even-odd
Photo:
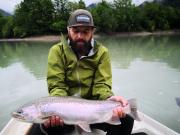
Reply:
[[[30,123],[41,123],[39,120],[41,113],[37,106],[29,105],[18,108],[16,111],[12,113],[12,117]]]

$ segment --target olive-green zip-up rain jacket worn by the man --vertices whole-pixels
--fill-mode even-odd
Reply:
[[[103,100],[113,95],[108,50],[94,42],[91,51],[94,53],[78,59],[66,40],[50,49],[47,83],[51,96]]]

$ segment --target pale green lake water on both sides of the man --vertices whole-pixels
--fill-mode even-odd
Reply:
[[[137,98],[139,110],[180,133],[180,36],[101,37],[109,48],[113,90]],[[46,67],[54,43],[0,42],[0,130],[10,113],[46,96]]]

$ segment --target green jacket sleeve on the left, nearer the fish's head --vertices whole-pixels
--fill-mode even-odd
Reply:
[[[53,46],[48,55],[47,83],[50,96],[67,96],[65,69],[62,50],[59,45]]]

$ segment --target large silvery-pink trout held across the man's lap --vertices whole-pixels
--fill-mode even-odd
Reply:
[[[128,100],[125,112],[134,119],[137,115],[136,100]],[[31,123],[44,123],[53,115],[60,116],[65,124],[78,125],[86,132],[91,132],[89,124],[120,124],[119,118],[112,119],[113,109],[122,106],[120,102],[111,100],[87,100],[75,97],[44,97],[20,107],[12,113],[12,117]]]

